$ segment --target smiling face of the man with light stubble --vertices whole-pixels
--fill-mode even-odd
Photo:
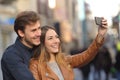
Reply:
[[[41,27],[40,22],[26,25],[24,32],[22,32],[22,43],[30,48],[40,44]]]

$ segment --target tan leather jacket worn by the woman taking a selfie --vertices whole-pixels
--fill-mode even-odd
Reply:
[[[98,49],[103,44],[104,38],[97,35],[96,39],[88,47],[88,49],[80,54],[66,56],[67,62],[69,62],[68,67],[81,67],[89,63],[97,54]],[[56,74],[50,69],[48,65],[38,65],[38,60],[31,59],[30,70],[35,77],[35,80],[59,80]],[[69,71],[64,68],[63,65],[59,65],[60,70],[63,74],[64,80],[74,80],[73,71]]]

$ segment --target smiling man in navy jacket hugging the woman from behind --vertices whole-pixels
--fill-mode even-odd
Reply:
[[[33,11],[21,12],[15,20],[14,30],[18,37],[5,50],[1,60],[3,80],[35,80],[29,71],[29,60],[40,44],[39,15]]]

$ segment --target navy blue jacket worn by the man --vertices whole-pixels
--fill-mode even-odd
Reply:
[[[3,80],[35,80],[29,71],[33,49],[23,45],[19,38],[9,46],[1,59]]]

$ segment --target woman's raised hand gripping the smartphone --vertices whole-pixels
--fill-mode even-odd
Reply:
[[[99,26],[98,28],[98,35],[105,36],[105,34],[107,33],[107,29],[108,29],[107,20],[102,18],[101,26]]]

